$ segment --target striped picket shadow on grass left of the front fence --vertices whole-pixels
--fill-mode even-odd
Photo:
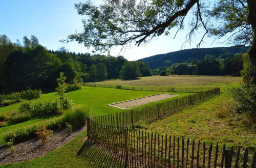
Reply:
[[[124,151],[87,139],[76,154],[92,167],[124,167]]]

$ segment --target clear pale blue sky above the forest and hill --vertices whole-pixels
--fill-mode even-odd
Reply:
[[[71,42],[63,44],[59,42],[66,39],[68,35],[75,31],[82,31],[81,19],[84,18],[77,14],[74,4],[79,0],[0,0],[0,35],[7,35],[11,41],[19,39],[22,42],[24,36],[30,38],[34,35],[39,43],[48,49],[57,50],[61,46],[75,52],[91,52],[81,44]],[[100,0],[92,0],[99,5]],[[145,46],[132,46],[125,52],[121,52],[127,60],[138,60],[150,57],[154,54],[166,53],[186,48],[195,48],[202,36],[202,32],[196,34],[193,42],[181,48],[185,41],[188,30],[180,31],[173,39],[175,31],[170,36],[160,36]],[[215,41],[206,38],[201,47],[228,46],[220,44],[224,40]],[[119,54],[121,47],[114,48],[110,53],[114,56]]]

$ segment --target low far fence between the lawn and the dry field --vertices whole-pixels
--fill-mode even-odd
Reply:
[[[99,87],[99,88],[116,88],[116,89],[123,89],[123,90],[134,90],[134,91],[158,91],[158,92],[187,92],[187,93],[194,93],[194,92],[203,92],[213,87],[145,87],[145,86],[125,86],[125,85],[101,85],[97,83],[83,83],[83,86],[87,87]]]

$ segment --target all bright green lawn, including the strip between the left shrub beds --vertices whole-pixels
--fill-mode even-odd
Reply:
[[[67,93],[67,95],[74,102],[74,107],[88,105],[91,108],[90,115],[101,116],[101,115],[106,115],[111,113],[117,113],[122,110],[122,109],[108,105],[114,101],[119,102],[119,101],[139,98],[143,96],[154,95],[158,93],[161,93],[161,92],[145,92],[145,91],[130,91],[130,90],[109,89],[109,88],[86,87],[85,89]],[[175,93],[175,94],[180,94],[180,96],[177,96],[177,97],[181,97],[191,93]],[[174,98],[177,98],[177,97],[174,97]],[[42,94],[40,99],[31,100],[31,101],[46,101],[48,99],[54,100],[56,98],[57,98],[56,93],[48,93],[48,94]],[[170,99],[174,99],[174,98],[170,98]],[[166,101],[166,100],[169,100],[169,99],[165,99],[162,101]],[[158,101],[158,102],[162,102],[162,101]],[[149,104],[154,104],[154,103],[156,102],[149,103]],[[1,107],[0,110],[2,111],[5,111],[6,109],[17,110],[19,104],[20,103],[13,104],[7,107]],[[21,127],[26,127],[36,122],[41,122],[44,119],[45,119],[44,117],[39,117],[37,119],[33,119],[27,122],[0,128],[0,145],[5,143],[3,138],[4,138],[4,134],[6,134],[8,131],[19,129]]]

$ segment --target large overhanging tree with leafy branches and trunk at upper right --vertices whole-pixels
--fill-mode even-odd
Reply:
[[[100,51],[132,43],[139,46],[162,34],[169,35],[174,27],[183,29],[186,17],[193,16],[187,40],[202,27],[205,34],[199,45],[207,34],[251,45],[249,77],[256,82],[255,0],[105,0],[99,7],[88,1],[75,8],[86,16],[83,32],[63,41],[78,41]]]

